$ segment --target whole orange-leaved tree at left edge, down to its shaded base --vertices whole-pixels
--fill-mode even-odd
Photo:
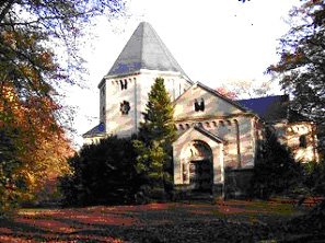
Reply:
[[[0,193],[11,195],[1,197],[5,210],[36,194],[50,196],[44,194],[46,184],[69,172],[66,160],[73,149],[53,116],[58,107],[50,100],[21,101],[10,83],[2,84],[0,93]]]

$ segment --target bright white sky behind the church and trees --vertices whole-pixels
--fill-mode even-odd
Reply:
[[[149,22],[193,81],[212,89],[229,81],[269,81],[264,71],[279,60],[277,47],[290,26],[285,22],[299,0],[131,0],[125,16],[104,18],[88,30],[81,50],[88,61],[88,89],[74,88],[74,141],[98,124],[97,84],[109,71],[141,21]],[[280,92],[277,84],[274,89]]]

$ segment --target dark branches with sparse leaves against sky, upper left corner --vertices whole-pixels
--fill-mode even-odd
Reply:
[[[82,71],[78,37],[83,28],[96,15],[123,10],[121,0],[1,1],[1,83],[12,82],[23,96],[49,95],[60,81],[76,83],[69,74]]]

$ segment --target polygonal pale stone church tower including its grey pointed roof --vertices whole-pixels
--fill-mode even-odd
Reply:
[[[143,120],[141,113],[148,93],[159,77],[164,79],[172,101],[193,84],[152,26],[141,22],[98,84],[101,124],[97,127],[103,131],[95,137],[136,134]],[[92,130],[83,136],[88,143],[95,139]]]

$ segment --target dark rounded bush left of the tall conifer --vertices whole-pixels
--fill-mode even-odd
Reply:
[[[136,171],[132,138],[108,137],[82,147],[69,160],[72,175],[62,176],[65,206],[114,205],[135,201],[146,180]]]

